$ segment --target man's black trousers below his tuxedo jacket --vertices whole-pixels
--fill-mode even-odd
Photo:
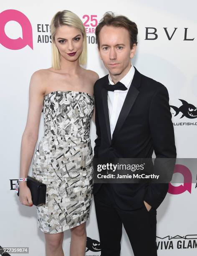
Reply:
[[[134,256],[157,256],[157,210],[121,210],[114,201],[110,184],[103,184],[94,195],[101,256],[120,256],[122,224]]]

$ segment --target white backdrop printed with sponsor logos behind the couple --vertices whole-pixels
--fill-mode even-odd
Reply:
[[[0,246],[29,247],[29,255],[45,255],[44,234],[37,227],[35,206],[21,205],[15,192],[19,178],[20,143],[28,113],[30,77],[51,67],[50,26],[59,10],[76,13],[86,27],[87,69],[103,77],[108,72],[98,56],[95,28],[106,11],[136,22],[139,35],[132,64],[142,74],[164,84],[169,92],[178,158],[197,156],[197,3],[194,0],[100,0],[38,1],[8,0],[0,5],[1,70],[1,179]],[[43,113],[39,138],[43,136]],[[96,128],[91,123],[91,144]],[[37,146],[37,145],[36,145]],[[153,155],[154,156],[154,155]],[[157,210],[159,256],[194,256],[197,253],[197,185],[185,181],[189,166],[176,166],[181,184],[170,184]],[[31,166],[29,169],[31,174]],[[116,223],[114,223],[116,225]],[[86,256],[100,256],[94,203],[87,222]],[[63,249],[69,255],[70,230],[64,232]],[[139,238],[141,239],[141,238]],[[141,239],[141,246],[146,237]],[[11,254],[12,255],[12,254]],[[19,255],[19,254],[16,254]],[[133,256],[123,230],[121,256]]]

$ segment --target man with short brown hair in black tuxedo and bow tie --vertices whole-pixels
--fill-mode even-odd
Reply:
[[[167,88],[131,64],[138,29],[106,13],[96,27],[98,52],[109,75],[94,84],[94,158],[176,158]],[[94,184],[102,256],[119,256],[122,224],[135,256],[156,256],[157,208],[168,183]]]

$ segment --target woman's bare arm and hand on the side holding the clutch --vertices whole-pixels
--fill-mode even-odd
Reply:
[[[29,108],[25,130],[23,132],[20,148],[20,178],[28,176],[29,167],[38,140],[40,115],[43,108],[43,95],[45,93],[43,72],[38,70],[30,79]],[[24,205],[32,204],[26,181],[19,182],[20,202]]]

